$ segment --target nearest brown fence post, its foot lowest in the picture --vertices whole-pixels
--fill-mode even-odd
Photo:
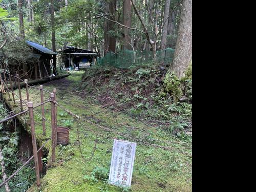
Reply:
[[[33,102],[28,102],[28,108],[29,108],[29,118],[30,118],[30,126],[31,126],[33,155],[34,155],[34,162],[35,162],[36,185],[40,186],[39,164],[38,164],[36,137],[35,137],[35,124],[34,124],[34,116],[33,116]]]

